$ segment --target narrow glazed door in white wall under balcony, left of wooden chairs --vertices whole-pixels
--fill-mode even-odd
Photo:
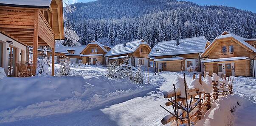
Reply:
[[[8,76],[13,77],[15,74],[16,48],[9,47],[8,58]]]

